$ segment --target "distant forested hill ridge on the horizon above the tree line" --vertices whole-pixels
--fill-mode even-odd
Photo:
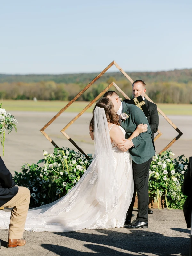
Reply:
[[[159,72],[126,72],[133,80],[142,79],[146,83],[153,82],[177,82],[188,83],[192,81],[192,69],[175,69],[171,71],[159,71]],[[32,83],[39,81],[54,81],[55,83],[75,83],[75,84],[88,84],[99,73],[79,73],[79,74],[59,74],[59,75],[6,75],[0,74],[0,83],[8,82],[24,82]],[[106,82],[110,77],[114,80],[126,80],[121,72],[107,72],[100,79],[100,82]]]

